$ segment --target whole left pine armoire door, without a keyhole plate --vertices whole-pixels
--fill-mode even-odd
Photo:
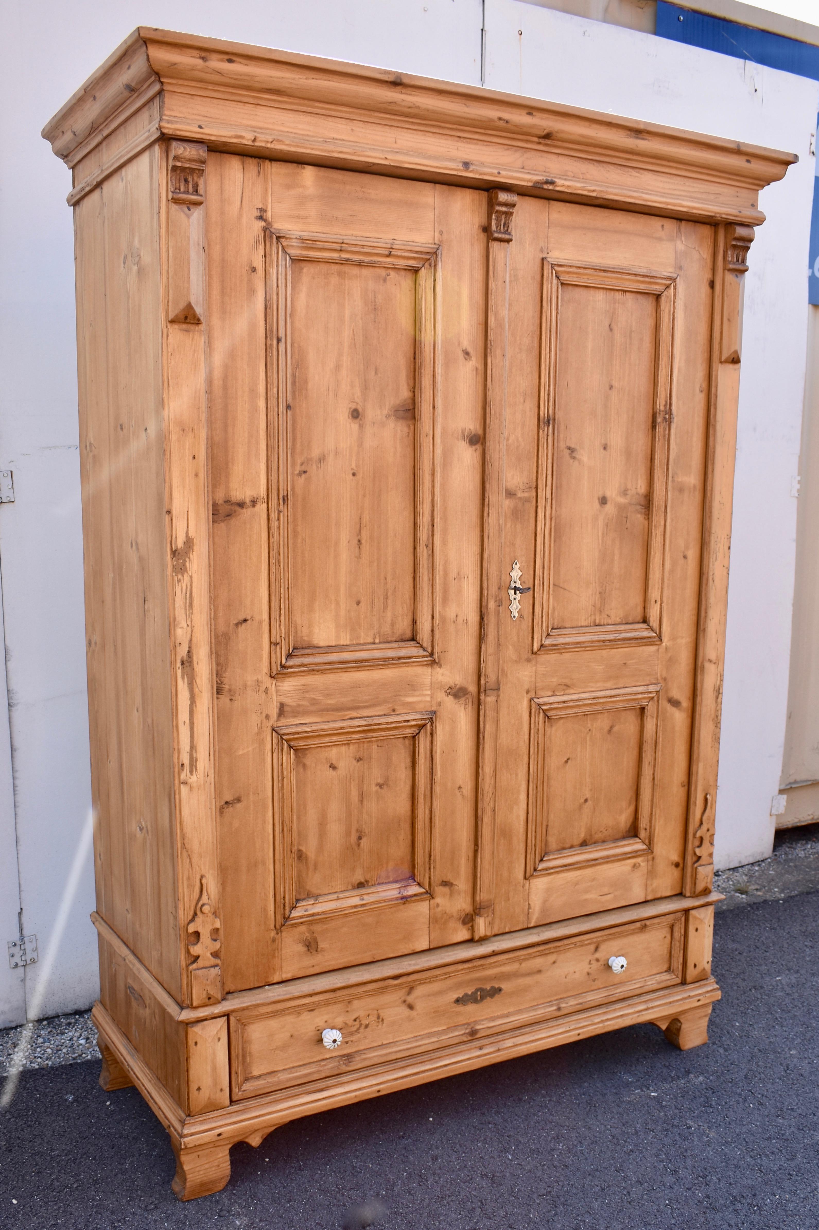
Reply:
[[[235,990],[471,936],[486,194],[212,154],[208,212]]]

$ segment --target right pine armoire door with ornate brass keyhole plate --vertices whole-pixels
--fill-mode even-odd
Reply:
[[[712,228],[512,231],[478,935],[681,892],[700,592]]]

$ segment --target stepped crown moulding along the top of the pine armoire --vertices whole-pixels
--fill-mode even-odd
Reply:
[[[497,187],[501,176],[514,191],[676,216],[759,223],[759,188],[794,161],[540,100],[149,27],[130,36],[43,135],[70,161],[125,112],[123,86],[148,89],[150,75],[162,87],[162,132],[212,149],[252,146],[256,156],[365,165],[480,188]]]

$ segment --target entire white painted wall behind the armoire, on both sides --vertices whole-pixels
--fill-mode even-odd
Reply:
[[[41,962],[30,1015],[91,1002],[89,813],[74,262],[69,172],[43,123],[138,23],[161,25],[443,79],[480,82],[481,0],[39,0],[6,9],[0,198],[2,370],[0,565],[21,900]],[[518,0],[487,0],[487,84],[807,155],[813,82]],[[519,31],[521,33],[519,33]],[[766,852],[778,784],[793,581],[804,364],[809,160],[766,189],[745,317],[718,857]],[[749,686],[745,688],[748,676]],[[750,695],[749,695],[750,691]],[[2,696],[0,695],[0,710]],[[0,712],[0,717],[1,717]],[[0,964],[16,934],[14,823],[0,721]],[[770,779],[770,780],[769,780]],[[47,977],[46,977],[47,975]],[[0,974],[0,1023],[21,1020],[21,980]]]

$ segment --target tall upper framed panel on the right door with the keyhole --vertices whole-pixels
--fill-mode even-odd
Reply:
[[[675,276],[544,261],[535,648],[662,636]]]

